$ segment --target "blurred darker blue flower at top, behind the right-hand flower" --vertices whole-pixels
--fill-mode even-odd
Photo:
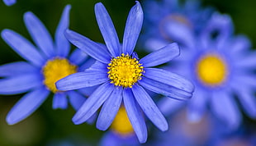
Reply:
[[[141,45],[149,51],[162,48],[167,43],[187,45],[191,33],[198,33],[209,20],[213,8],[201,7],[200,1],[145,0],[145,25]],[[156,48],[155,48],[156,47]]]

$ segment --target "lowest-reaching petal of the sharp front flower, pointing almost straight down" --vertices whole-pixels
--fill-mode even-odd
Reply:
[[[140,143],[145,143],[148,137],[147,127],[142,112],[140,111],[140,107],[138,103],[135,102],[135,97],[130,89],[124,89],[123,99],[130,124],[135,130],[135,134]]]

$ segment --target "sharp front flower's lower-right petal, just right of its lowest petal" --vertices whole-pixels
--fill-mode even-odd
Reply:
[[[159,107],[155,105],[154,101],[150,98],[145,89],[139,85],[134,85],[131,90],[136,101],[149,117],[150,121],[152,121],[159,130],[168,130],[168,122],[165,120],[163,114],[159,111]]]

